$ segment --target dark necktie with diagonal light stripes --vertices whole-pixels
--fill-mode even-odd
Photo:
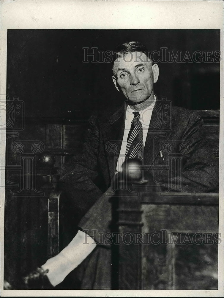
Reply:
[[[138,112],[133,112],[132,114],[134,114],[134,119],[131,122],[131,129],[127,137],[125,156],[128,159],[137,158],[142,162],[144,145],[142,124],[139,121],[140,114]]]

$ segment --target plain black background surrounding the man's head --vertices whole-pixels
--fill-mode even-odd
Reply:
[[[119,104],[123,97],[113,85],[111,63],[83,63],[82,48],[113,50],[134,40],[174,54],[220,50],[220,30],[8,30],[7,94],[25,102],[26,117],[72,118],[77,111]],[[158,65],[159,97],[184,108],[219,109],[219,63]]]

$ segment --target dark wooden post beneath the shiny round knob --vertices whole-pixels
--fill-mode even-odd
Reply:
[[[117,214],[113,214],[113,221],[117,221],[118,232],[122,235],[119,244],[119,289],[141,289],[141,246],[135,243],[131,235],[141,233],[141,210],[138,196],[129,197],[128,191],[117,191]],[[121,199],[119,195],[124,195]],[[113,198],[113,208],[116,207]],[[115,215],[115,216],[114,216]],[[123,238],[126,237],[127,239]],[[115,246],[115,245],[114,245]],[[118,260],[114,260],[118,261]]]

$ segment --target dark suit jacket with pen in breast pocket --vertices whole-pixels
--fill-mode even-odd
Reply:
[[[74,156],[62,169],[60,179],[69,198],[69,207],[78,220],[85,214],[81,222],[87,219],[88,227],[92,212],[96,211],[94,204],[98,198],[104,197],[113,183],[124,134],[125,112],[124,104],[92,114],[82,154]],[[185,191],[217,190],[218,164],[206,144],[202,124],[203,120],[197,113],[156,101],[144,147],[144,165],[156,182],[169,187],[182,179]],[[165,161],[160,157],[160,150]],[[182,156],[183,173],[172,173],[172,178],[169,178],[169,170],[164,165],[168,166],[171,155]],[[105,207],[100,208],[102,211]],[[99,216],[95,215],[96,212],[93,221]],[[85,224],[81,226],[85,227]]]

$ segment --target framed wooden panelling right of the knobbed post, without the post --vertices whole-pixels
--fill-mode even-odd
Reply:
[[[209,197],[209,194],[206,196]],[[217,288],[217,242],[213,241],[210,246],[203,243],[197,245],[192,236],[199,232],[203,233],[202,237],[205,238],[206,233],[214,235],[218,232],[218,205],[191,205],[187,204],[188,198],[185,198],[184,205],[181,205],[181,202],[170,205],[170,198],[166,200],[167,204],[142,206],[143,235],[151,235],[150,244],[142,245],[142,288]],[[174,200],[177,201],[176,198]],[[177,237],[178,233],[181,238]],[[155,238],[152,237],[153,234]],[[187,238],[184,238],[186,235]],[[187,240],[184,242],[184,239]],[[182,243],[173,242],[179,240]],[[201,265],[203,260],[204,264]]]

